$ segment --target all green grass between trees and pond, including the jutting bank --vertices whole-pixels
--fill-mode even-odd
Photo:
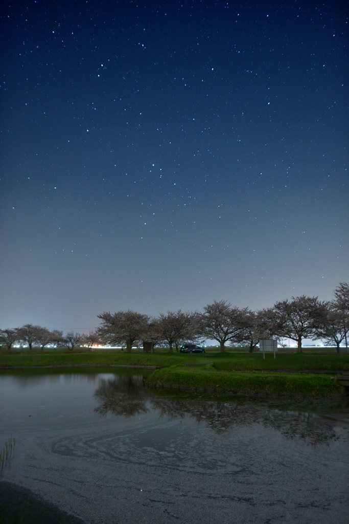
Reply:
[[[263,354],[260,353],[236,352],[187,355],[164,351],[143,354],[35,350],[0,355],[2,373],[16,367],[26,368],[21,373],[38,373],[38,367],[41,367],[40,372],[47,373],[47,366],[51,367],[50,373],[54,372],[53,368],[57,368],[56,372],[59,372],[60,367],[65,367],[71,373],[81,372],[83,366],[90,366],[88,370],[96,373],[102,370],[106,372],[108,366],[112,365],[156,367],[154,372],[148,370],[146,373],[149,383],[156,386],[219,389],[244,394],[340,398],[341,389],[325,373],[349,372],[349,355],[292,353],[277,354],[274,359],[272,354],[266,354],[263,359]],[[99,370],[96,366],[99,366]]]

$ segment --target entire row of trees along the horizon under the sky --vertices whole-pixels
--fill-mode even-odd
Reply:
[[[77,346],[91,348],[107,344],[121,345],[128,352],[134,346],[153,351],[154,346],[161,345],[173,352],[187,342],[209,339],[216,340],[221,351],[226,344],[243,344],[252,353],[262,339],[291,339],[297,342],[298,351],[302,351],[303,339],[321,339],[335,345],[338,353],[344,341],[348,352],[349,283],[340,282],[332,301],[302,295],[258,311],[233,307],[226,300],[220,300],[206,305],[202,312],[167,311],[157,318],[131,310],[97,316],[100,325],[88,334],[71,331],[63,336],[58,330],[26,324],[17,329],[0,330],[0,344],[8,350],[18,342],[30,349],[64,344],[71,351]]]

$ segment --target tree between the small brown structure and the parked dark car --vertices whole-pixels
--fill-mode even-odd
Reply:
[[[170,353],[173,352],[173,345],[176,346],[187,340],[193,340],[193,313],[184,313],[182,310],[167,311],[166,314],[160,313],[157,319],[157,330],[160,340],[170,346]]]

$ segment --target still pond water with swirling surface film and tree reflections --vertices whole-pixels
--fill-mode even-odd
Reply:
[[[349,522],[348,402],[149,389],[140,370],[0,374],[2,479],[86,523]]]

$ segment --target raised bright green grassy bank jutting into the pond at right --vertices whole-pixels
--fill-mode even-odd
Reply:
[[[340,398],[341,390],[328,375],[219,372],[212,366],[157,369],[148,383],[157,387],[230,391],[235,394]]]

